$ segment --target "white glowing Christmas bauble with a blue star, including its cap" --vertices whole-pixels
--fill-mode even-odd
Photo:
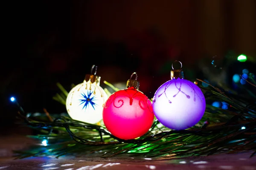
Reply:
[[[100,77],[96,71],[87,74],[84,82],[76,85],[69,92],[66,100],[67,113],[72,119],[95,124],[102,120],[102,110],[107,94],[99,86]]]

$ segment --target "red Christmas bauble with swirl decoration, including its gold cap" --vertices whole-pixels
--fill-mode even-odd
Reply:
[[[135,139],[143,136],[153,124],[152,103],[138,88],[137,78],[130,78],[127,88],[113,93],[105,103],[103,122],[113,136]]]

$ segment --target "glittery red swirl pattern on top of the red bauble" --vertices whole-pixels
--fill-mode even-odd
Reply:
[[[131,91],[131,90],[136,91],[136,92],[134,94],[129,93],[128,91]],[[133,87],[125,89],[125,90],[122,90],[122,91],[125,91],[125,94],[119,94],[118,92],[114,93],[107,100],[107,102],[105,104],[105,108],[108,108],[112,103],[113,103],[113,106],[115,108],[121,108],[122,105],[124,105],[124,100],[123,99],[119,99],[116,102],[116,98],[120,97],[120,96],[124,96],[124,97],[128,97],[129,98],[129,105],[133,104],[135,98],[139,98],[139,106],[140,106],[140,108],[143,109],[143,110],[148,109],[151,113],[153,113],[153,111],[151,111],[151,109],[150,109],[150,107],[148,105],[147,99],[145,99],[144,94],[142,94],[140,91],[135,90],[135,88],[133,88]],[[145,107],[143,107],[143,104],[145,104]]]

